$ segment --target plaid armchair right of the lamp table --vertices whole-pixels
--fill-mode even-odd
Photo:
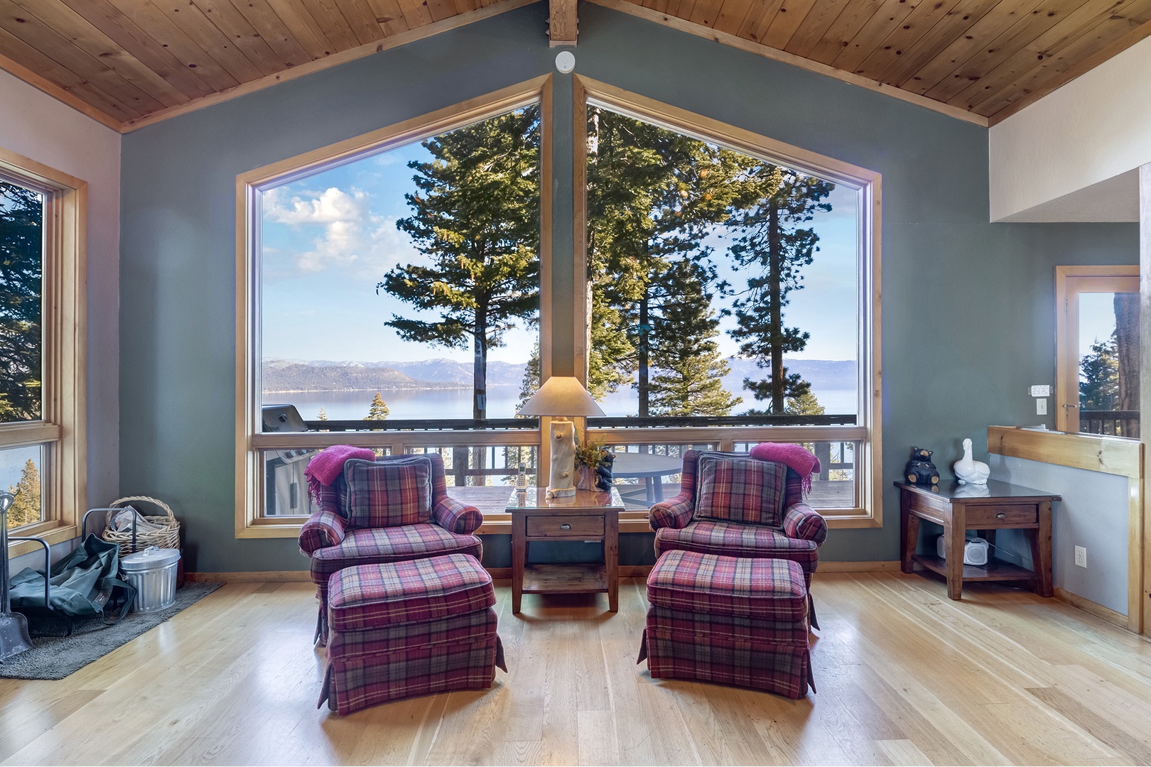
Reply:
[[[701,486],[701,459],[714,461],[706,486]],[[656,559],[679,550],[796,562],[807,582],[811,626],[820,628],[811,576],[828,522],[803,503],[802,480],[794,469],[757,461],[762,466],[748,471],[742,461],[752,460],[747,453],[684,453],[679,494],[651,507]],[[778,499],[778,505],[757,508],[761,498]]]

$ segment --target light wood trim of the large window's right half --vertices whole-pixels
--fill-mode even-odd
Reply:
[[[836,160],[791,144],[768,138],[712,117],[673,107],[655,99],[623,89],[576,76],[574,86],[574,163],[576,163],[576,268],[573,281],[576,285],[576,316],[573,327],[581,329],[576,343],[576,375],[586,383],[587,347],[590,328],[588,327],[587,283],[587,105],[588,102],[607,107],[628,117],[674,130],[695,138],[719,144],[730,149],[769,161],[780,162],[798,170],[805,170],[828,181],[851,186],[857,190],[860,213],[859,225],[860,274],[857,296],[862,310],[859,323],[859,414],[862,423],[857,427],[762,427],[725,429],[716,434],[721,446],[731,442],[748,439],[776,439],[799,442],[802,435],[805,442],[832,442],[860,439],[861,450],[855,470],[856,499],[861,505],[845,509],[820,509],[832,528],[872,528],[883,527],[883,445],[882,432],[882,381],[879,374],[881,360],[881,223],[882,175],[859,166]],[[863,392],[870,391],[868,397]],[[580,423],[579,428],[584,428]],[[623,444],[642,442],[641,432],[651,434],[655,442],[706,442],[708,429],[656,429],[656,430],[596,430],[594,436],[608,443]],[[860,435],[860,436],[848,436]],[[544,459],[541,457],[541,461]]]

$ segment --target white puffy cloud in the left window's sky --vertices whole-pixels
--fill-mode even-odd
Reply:
[[[291,198],[273,189],[264,194],[264,220],[265,225],[321,228],[311,250],[292,254],[303,273],[342,269],[356,278],[380,279],[395,263],[422,261],[407,235],[396,229],[396,218],[374,214],[371,202],[371,195],[357,189],[331,186]]]

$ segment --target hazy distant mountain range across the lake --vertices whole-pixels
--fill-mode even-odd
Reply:
[[[744,378],[759,379],[765,371],[750,360],[729,358],[731,373],[723,382],[739,393]],[[855,388],[854,360],[792,360],[784,358],[788,373],[800,374],[816,391]],[[489,386],[519,386],[526,362],[488,362]],[[471,362],[448,359],[410,362],[358,362],[333,360],[266,360],[264,391],[384,391],[396,389],[470,389]],[[745,398],[746,399],[746,398]]]

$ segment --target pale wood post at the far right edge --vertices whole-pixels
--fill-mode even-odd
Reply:
[[[1151,605],[1151,524],[1148,523],[1148,493],[1151,478],[1148,477],[1146,457],[1151,450],[1151,163],[1139,167],[1139,455],[1143,471],[1143,605],[1139,611],[1139,634],[1146,631],[1143,616]],[[1134,586],[1134,584],[1131,584]]]

